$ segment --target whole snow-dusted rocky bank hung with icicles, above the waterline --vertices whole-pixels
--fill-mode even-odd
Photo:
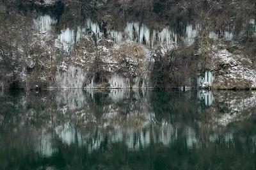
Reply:
[[[33,2],[47,9],[47,6],[56,3],[65,5],[64,3],[68,1]],[[68,5],[72,6],[71,1],[67,4],[67,8]],[[54,6],[54,9],[56,6],[58,7],[58,4]],[[13,15],[13,18],[18,18],[17,16],[20,17],[20,15]],[[17,32],[16,23],[19,20],[13,22],[11,17],[7,19],[16,26],[14,31],[3,34],[0,31],[2,35],[13,34],[13,37],[2,38],[15,40],[10,44],[7,43],[6,49],[10,49],[8,45],[13,46],[13,49],[17,48],[15,50],[17,54],[14,56],[17,63],[10,61],[10,65],[15,63],[17,68],[8,70],[8,66],[2,67],[4,60],[0,58],[0,88],[154,88],[153,83],[150,82],[152,81],[150,76],[154,72],[152,65],[157,63],[154,61],[156,50],[161,51],[159,61],[164,62],[162,58],[167,52],[176,47],[194,47],[197,39],[202,38],[200,22],[185,24],[179,27],[182,29],[180,31],[172,24],[150,27],[150,24],[134,19],[125,21],[122,28],[116,29],[114,26],[109,26],[105,20],[96,22],[90,18],[84,18],[83,21],[71,26],[74,24],[68,18],[71,17],[71,13],[68,13],[68,17],[61,17],[61,14],[54,17],[51,12],[36,13],[32,16],[20,17],[19,20],[29,22],[28,24],[21,23],[22,27],[19,32]],[[75,17],[76,14],[72,14],[71,19]],[[105,18],[111,22],[110,15]],[[250,22],[250,24],[255,24],[255,22]],[[16,32],[17,35],[15,35]],[[230,27],[217,32],[220,33],[210,31],[205,33],[205,36],[216,42],[222,36],[221,43],[233,39],[234,30]],[[17,38],[18,35],[21,36]],[[168,65],[164,67],[167,70],[164,79],[170,80],[166,81],[167,84],[177,82],[178,87],[182,86],[185,89],[190,89],[191,86],[205,89],[256,88],[256,71],[252,61],[242,55],[243,52],[230,53],[228,50],[221,49],[219,47],[221,45],[223,46],[223,44],[212,45],[209,58],[211,62],[204,68],[200,68],[200,71],[198,71],[199,66],[198,70],[195,66],[200,63],[200,59],[194,58],[196,54],[191,55],[191,58],[189,56],[190,61],[193,61],[191,63],[196,63],[195,65],[185,63],[188,58],[177,54],[177,56],[182,56],[180,60],[182,60],[181,63],[185,63],[183,67],[175,65],[177,56],[167,55],[170,57],[170,59],[167,58],[170,62],[166,62]],[[197,50],[200,47],[195,48]],[[202,62],[204,62],[203,59]],[[157,66],[163,68],[160,62]],[[193,71],[188,68],[193,68]],[[200,72],[199,75],[198,72]],[[161,77],[161,73],[156,76]],[[184,76],[185,74],[188,76]],[[176,79],[172,79],[172,76],[176,76]],[[159,82],[161,84],[165,81]],[[196,82],[197,85],[195,85]],[[173,88],[176,85],[173,84],[165,87]]]

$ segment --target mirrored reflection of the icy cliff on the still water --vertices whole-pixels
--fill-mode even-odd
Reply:
[[[122,151],[140,151],[151,147],[172,148],[177,143],[198,151],[215,144],[236,148],[237,143],[247,143],[255,151],[255,134],[239,135],[246,124],[254,126],[250,120],[255,120],[256,104],[252,102],[255,93],[200,94],[211,94],[214,102],[209,105],[208,100],[206,103],[205,99],[198,100],[196,91],[116,89],[4,94],[0,114],[1,154],[13,157],[12,150],[20,154],[26,150],[49,159],[71,154],[72,150],[95,154],[121,146]],[[236,112],[241,119],[230,120],[232,127],[218,124],[222,116]],[[10,148],[9,153],[2,152],[6,148]]]

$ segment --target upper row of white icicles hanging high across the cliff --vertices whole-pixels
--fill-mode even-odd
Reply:
[[[49,15],[43,15],[35,19],[34,23],[41,31],[50,31],[52,24],[56,24],[56,20],[52,19]],[[107,35],[113,38],[116,43],[124,43],[126,40],[131,40],[146,45],[147,47],[154,47],[156,44],[173,45],[173,43],[177,43],[179,40],[184,41],[187,45],[191,45],[200,32],[200,29],[200,24],[196,26],[188,24],[183,35],[179,35],[171,26],[157,30],[149,29],[145,24],[140,22],[127,22],[124,31],[108,29]],[[214,33],[212,31],[209,33],[209,37],[217,39],[220,38],[220,35],[223,35],[223,38],[226,40],[232,40],[232,30],[233,29],[227,27],[226,31],[222,33]],[[61,40],[63,43],[76,43],[80,40],[81,36],[88,33],[94,34],[97,40],[104,35],[97,22],[86,19],[84,25],[78,26],[76,29],[70,27],[63,29],[60,35],[58,35],[58,40]],[[179,36],[181,37],[178,38]]]

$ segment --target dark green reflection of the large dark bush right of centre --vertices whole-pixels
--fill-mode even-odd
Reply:
[[[191,123],[200,119],[196,91],[156,91],[150,93],[150,102],[158,122],[168,120],[172,124]]]

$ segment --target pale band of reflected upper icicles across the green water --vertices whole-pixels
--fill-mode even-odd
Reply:
[[[153,131],[149,127],[141,130],[115,128],[114,130],[109,130],[107,134],[102,133],[100,130],[95,134],[81,134],[79,130],[65,126],[55,128],[55,132],[63,143],[77,143],[79,146],[87,146],[90,153],[99,149],[100,144],[106,139],[108,139],[108,143],[124,141],[129,150],[140,150],[141,147],[145,148],[150,143],[163,143],[168,146],[168,144],[177,139],[177,130],[172,125],[162,125],[159,128],[154,128]],[[194,135],[195,132],[191,128],[188,128],[186,132],[188,146],[191,146],[197,141]],[[91,139],[92,135],[93,139]],[[107,138],[106,135],[108,135]]]

